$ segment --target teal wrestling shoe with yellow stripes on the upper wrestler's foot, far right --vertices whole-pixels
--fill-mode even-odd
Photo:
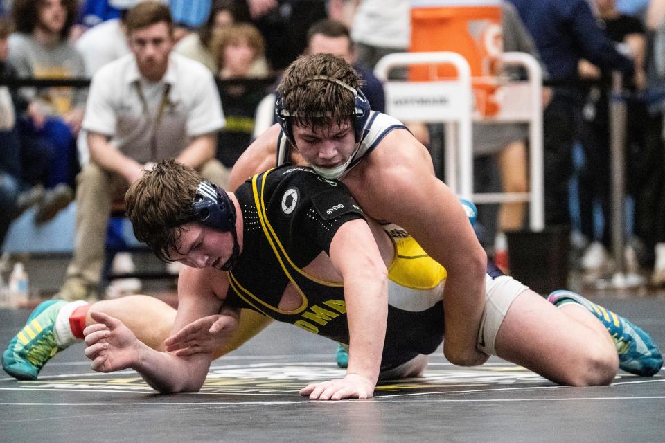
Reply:
[[[589,309],[610,332],[619,352],[619,368],[641,377],[656,374],[663,365],[663,356],[652,338],[639,327],[612,311],[590,302],[571,291],[554,291],[547,301],[561,306],[578,303]]]

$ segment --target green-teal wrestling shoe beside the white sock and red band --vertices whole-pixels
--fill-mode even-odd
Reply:
[[[2,354],[2,368],[19,380],[35,380],[47,361],[60,347],[55,343],[55,318],[67,302],[48,300],[39,303],[26,325],[12,338]]]

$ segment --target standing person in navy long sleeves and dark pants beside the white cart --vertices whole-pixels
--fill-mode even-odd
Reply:
[[[570,225],[568,183],[572,147],[578,138],[583,87],[578,62],[585,58],[602,71],[632,75],[632,60],[596,24],[586,0],[511,0],[533,37],[555,87],[544,110],[544,194],[547,225]]]

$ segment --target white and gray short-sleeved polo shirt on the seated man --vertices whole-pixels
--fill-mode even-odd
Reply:
[[[123,154],[145,163],[177,156],[193,137],[218,132],[224,123],[217,87],[204,65],[171,53],[163,78],[152,83],[129,54],[94,75],[83,129],[111,136]]]

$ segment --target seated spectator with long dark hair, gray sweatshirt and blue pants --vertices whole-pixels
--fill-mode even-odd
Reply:
[[[9,39],[8,62],[20,78],[82,78],[85,69],[81,55],[67,40],[76,18],[76,0],[15,0],[12,17],[17,29]],[[57,186],[60,207],[73,198],[76,175],[76,134],[80,129],[85,91],[72,88],[23,88],[28,102],[26,118],[19,120],[19,136],[26,144],[22,165],[31,183]],[[48,156],[49,170],[34,170],[35,159]],[[57,211],[37,212],[37,222],[46,221]]]

